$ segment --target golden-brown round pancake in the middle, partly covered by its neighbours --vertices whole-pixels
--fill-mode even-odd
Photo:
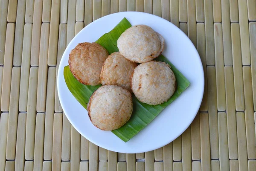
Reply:
[[[137,64],[126,59],[120,52],[113,52],[102,67],[102,85],[118,85],[131,92],[130,78],[135,67]]]

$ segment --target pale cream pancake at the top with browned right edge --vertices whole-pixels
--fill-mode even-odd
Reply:
[[[164,49],[164,38],[146,25],[126,29],[117,40],[119,52],[128,60],[143,63],[157,58]]]

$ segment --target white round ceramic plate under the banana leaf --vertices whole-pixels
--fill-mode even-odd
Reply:
[[[148,126],[128,142],[111,131],[103,131],[90,122],[87,110],[70,93],[63,70],[68,65],[71,49],[81,42],[94,42],[110,32],[124,17],[131,25],[145,24],[165,38],[163,55],[190,81],[189,87],[169,104]],[[94,144],[121,153],[155,150],[172,142],[195,118],[204,93],[204,71],[197,50],[189,38],[174,24],[161,17],[142,12],[120,12],[95,20],[82,29],[69,43],[58,70],[58,96],[64,113],[73,127]]]

